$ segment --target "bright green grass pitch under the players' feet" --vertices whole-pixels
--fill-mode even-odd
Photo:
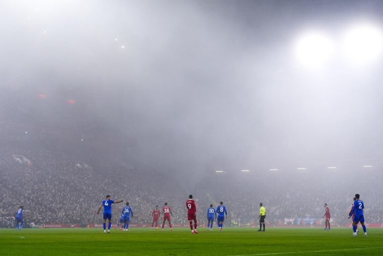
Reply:
[[[351,237],[350,228],[268,228],[257,232],[256,228],[224,227],[220,233],[215,227],[213,231],[200,228],[200,234],[187,228],[172,232],[168,228],[163,232],[113,228],[110,234],[100,228],[0,229],[0,251],[2,255],[383,255],[383,229],[367,231],[368,237],[362,232]]]

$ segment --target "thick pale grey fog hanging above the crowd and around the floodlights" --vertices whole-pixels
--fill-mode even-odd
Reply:
[[[311,169],[297,186],[324,173],[332,177],[327,168],[334,165],[336,175],[358,173],[363,165],[377,172],[383,153],[382,57],[352,62],[342,55],[341,42],[344,31],[360,23],[382,31],[381,9],[381,1],[2,1],[4,156],[35,158],[33,168],[46,158],[57,161],[52,168],[61,166],[60,154],[66,161],[93,160],[88,164],[94,170],[104,162],[100,177],[105,163],[112,166],[118,158],[132,169],[169,176],[185,195],[201,198],[206,179],[230,187],[226,182],[241,170],[249,170],[257,184],[264,175],[290,181],[302,175],[297,168]],[[322,65],[305,65],[297,57],[297,40],[310,31],[324,31],[335,42],[332,58]],[[11,131],[16,126],[5,124],[25,127]],[[20,135],[26,127],[70,132],[76,142],[41,141],[33,131]],[[20,168],[6,165],[8,171]],[[110,174],[124,176],[124,170],[111,168]],[[230,178],[217,178],[216,171]],[[89,176],[100,178],[93,172],[83,178]],[[74,186],[71,177],[61,178]],[[260,196],[240,179],[234,183]],[[286,191],[288,184],[273,182],[265,189],[275,185],[280,194],[293,193]],[[97,205],[101,197],[92,191]],[[107,187],[102,191],[108,193]],[[359,191],[348,192],[345,206],[339,201],[346,195],[334,199],[339,209]],[[309,187],[299,193],[309,193]],[[274,195],[266,193],[264,200],[277,204]]]

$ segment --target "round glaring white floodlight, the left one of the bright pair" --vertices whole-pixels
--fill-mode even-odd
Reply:
[[[321,66],[331,58],[334,43],[325,34],[311,32],[299,38],[296,51],[301,64]]]

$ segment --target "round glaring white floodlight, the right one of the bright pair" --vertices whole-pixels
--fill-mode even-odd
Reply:
[[[372,61],[383,52],[382,31],[369,25],[349,29],[344,36],[342,48],[347,60],[356,63]]]

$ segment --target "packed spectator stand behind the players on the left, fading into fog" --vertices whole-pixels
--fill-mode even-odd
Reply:
[[[27,156],[32,162],[19,163],[12,156]],[[94,154],[94,152],[92,152]],[[182,188],[167,175],[122,165],[112,157],[94,156],[87,168],[71,161],[80,155],[47,148],[47,145],[3,141],[1,147],[0,217],[15,214],[25,206],[25,218],[34,223],[96,224],[102,216],[97,208],[106,194],[124,198],[135,212],[132,223],[148,223],[156,205],[168,202],[172,221],[183,223]],[[82,159],[83,160],[83,159]],[[85,162],[85,161],[84,161]],[[102,164],[93,164],[102,162]],[[113,222],[119,220],[123,204],[113,207]]]

